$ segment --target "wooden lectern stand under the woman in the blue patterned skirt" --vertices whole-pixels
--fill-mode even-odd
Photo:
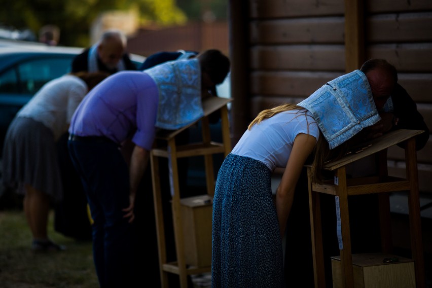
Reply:
[[[340,207],[340,225],[342,249],[340,260],[342,268],[342,283],[345,287],[353,287],[353,270],[351,255],[351,238],[348,214],[348,196],[379,193],[381,246],[384,253],[390,253],[392,248],[390,231],[389,193],[394,191],[408,191],[409,222],[411,235],[411,256],[415,263],[416,286],[425,287],[423,244],[421,236],[420,200],[417,175],[417,154],[415,136],[424,131],[400,129],[384,134],[366,145],[372,146],[359,153],[344,156],[342,159],[331,161],[323,169],[334,171],[334,182],[314,183],[311,180],[310,166],[308,167],[309,211],[312,237],[312,256],[315,287],[325,287],[323,246],[321,235],[321,214],[319,193],[337,196]],[[387,148],[406,141],[405,165],[406,179],[391,177],[387,173]],[[347,179],[345,166],[366,156],[378,153],[379,175]]]

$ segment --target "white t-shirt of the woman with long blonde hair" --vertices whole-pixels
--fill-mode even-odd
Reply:
[[[258,160],[273,171],[286,166],[299,133],[318,140],[319,128],[312,114],[305,109],[281,112],[246,130],[231,153]]]

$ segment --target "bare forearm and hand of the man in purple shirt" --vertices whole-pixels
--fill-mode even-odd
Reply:
[[[138,189],[139,182],[141,181],[142,175],[146,171],[149,163],[150,151],[143,149],[137,145],[132,150],[132,157],[130,159],[129,177],[130,177],[130,192],[129,192],[129,207],[123,209],[126,214],[124,218],[129,218],[131,223],[134,218],[133,207],[135,205],[135,196]]]

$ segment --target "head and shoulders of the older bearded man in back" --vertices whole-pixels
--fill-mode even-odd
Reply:
[[[136,70],[126,53],[126,35],[120,30],[110,29],[103,32],[100,40],[72,62],[72,72],[105,71],[114,74],[123,70]]]

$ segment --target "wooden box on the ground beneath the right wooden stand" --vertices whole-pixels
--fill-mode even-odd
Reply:
[[[384,263],[385,258],[398,262]],[[333,287],[342,288],[340,256],[332,257]],[[410,288],[415,287],[414,260],[384,253],[353,254],[354,287]]]

